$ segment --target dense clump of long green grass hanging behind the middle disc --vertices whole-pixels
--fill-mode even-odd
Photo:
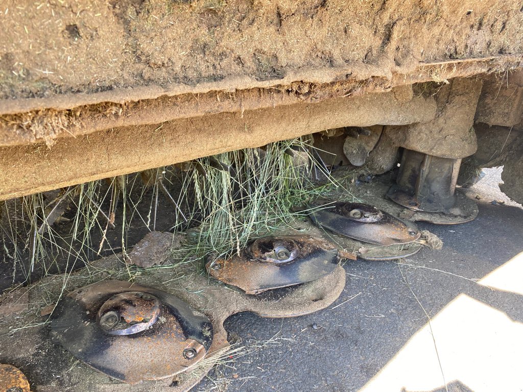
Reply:
[[[239,251],[249,238],[298,218],[293,206],[336,187],[315,162],[311,148],[300,138],[198,159],[188,177],[195,206],[203,212],[201,224],[190,230],[194,251],[198,255]],[[321,171],[326,184],[311,178],[313,170]]]

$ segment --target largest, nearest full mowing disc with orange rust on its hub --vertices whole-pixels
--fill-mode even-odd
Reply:
[[[113,280],[62,298],[51,335],[77,359],[133,384],[196,365],[209,350],[213,328],[172,294]]]

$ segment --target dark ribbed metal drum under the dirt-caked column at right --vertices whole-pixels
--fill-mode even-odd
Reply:
[[[449,212],[456,204],[461,159],[441,158],[405,149],[396,185],[387,196],[415,211]]]

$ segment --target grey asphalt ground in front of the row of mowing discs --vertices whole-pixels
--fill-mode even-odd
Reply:
[[[506,352],[513,349],[511,342],[518,346],[523,339],[521,335],[510,336],[523,322],[523,296],[521,292],[494,290],[472,281],[483,278],[523,252],[523,209],[493,205],[490,202],[494,198],[495,194],[483,195],[479,200],[479,215],[473,222],[457,226],[420,223],[420,228],[429,229],[444,241],[444,248],[424,248],[414,257],[400,261],[411,266],[397,262],[348,262],[344,292],[321,312],[292,319],[264,319],[249,313],[232,316],[225,324],[231,340],[254,351],[219,366],[193,391],[523,390],[523,378],[519,374],[508,372],[505,377],[487,374],[489,369],[499,372],[495,365],[500,361],[514,363]],[[444,320],[445,314],[452,313],[451,309],[462,303],[463,296],[472,303],[470,309],[486,309],[486,314],[491,316],[479,323],[472,320],[480,316],[474,311],[471,317],[465,317],[472,323],[467,325],[458,320],[460,312],[453,313],[454,316],[447,319],[450,331],[455,328],[466,337],[469,332],[474,336],[481,328],[488,330],[490,324],[493,326],[492,333],[479,333],[474,337],[470,347],[462,348],[459,341],[463,338],[458,335],[454,336],[458,343],[450,343],[451,349],[456,349],[452,356],[463,356],[459,363],[464,365],[467,361],[473,363],[472,371],[452,365],[450,354],[445,356],[447,338],[441,332],[444,327],[438,327],[439,335],[429,334],[430,344],[422,344],[419,350],[415,348],[423,340],[417,332],[422,329],[426,332],[430,327],[425,311],[436,328],[442,325],[440,319]],[[506,330],[505,324],[494,326],[497,315],[502,315]],[[452,325],[454,319],[455,326]],[[479,354],[475,351],[478,347],[488,347],[490,340],[500,338],[508,341],[501,344],[506,347],[500,348],[503,349],[500,353],[492,352],[497,345],[494,349],[480,350]],[[259,345],[262,347],[256,349]],[[427,361],[437,359],[435,346],[438,345],[444,357],[435,366],[438,368],[429,370],[435,374],[434,381],[430,381],[423,372],[427,371]],[[418,361],[420,366],[416,368]],[[515,365],[520,369],[522,364],[523,354]],[[457,373],[456,367],[460,367]],[[416,384],[412,378],[417,373],[423,380]],[[388,381],[388,377],[396,380]],[[379,386],[380,379],[386,387]],[[510,379],[521,381],[510,382]]]

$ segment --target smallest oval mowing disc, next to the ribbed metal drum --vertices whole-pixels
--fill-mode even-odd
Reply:
[[[375,245],[407,244],[419,238],[414,225],[368,204],[349,202],[315,202],[324,206],[309,216],[314,224],[334,233]]]

